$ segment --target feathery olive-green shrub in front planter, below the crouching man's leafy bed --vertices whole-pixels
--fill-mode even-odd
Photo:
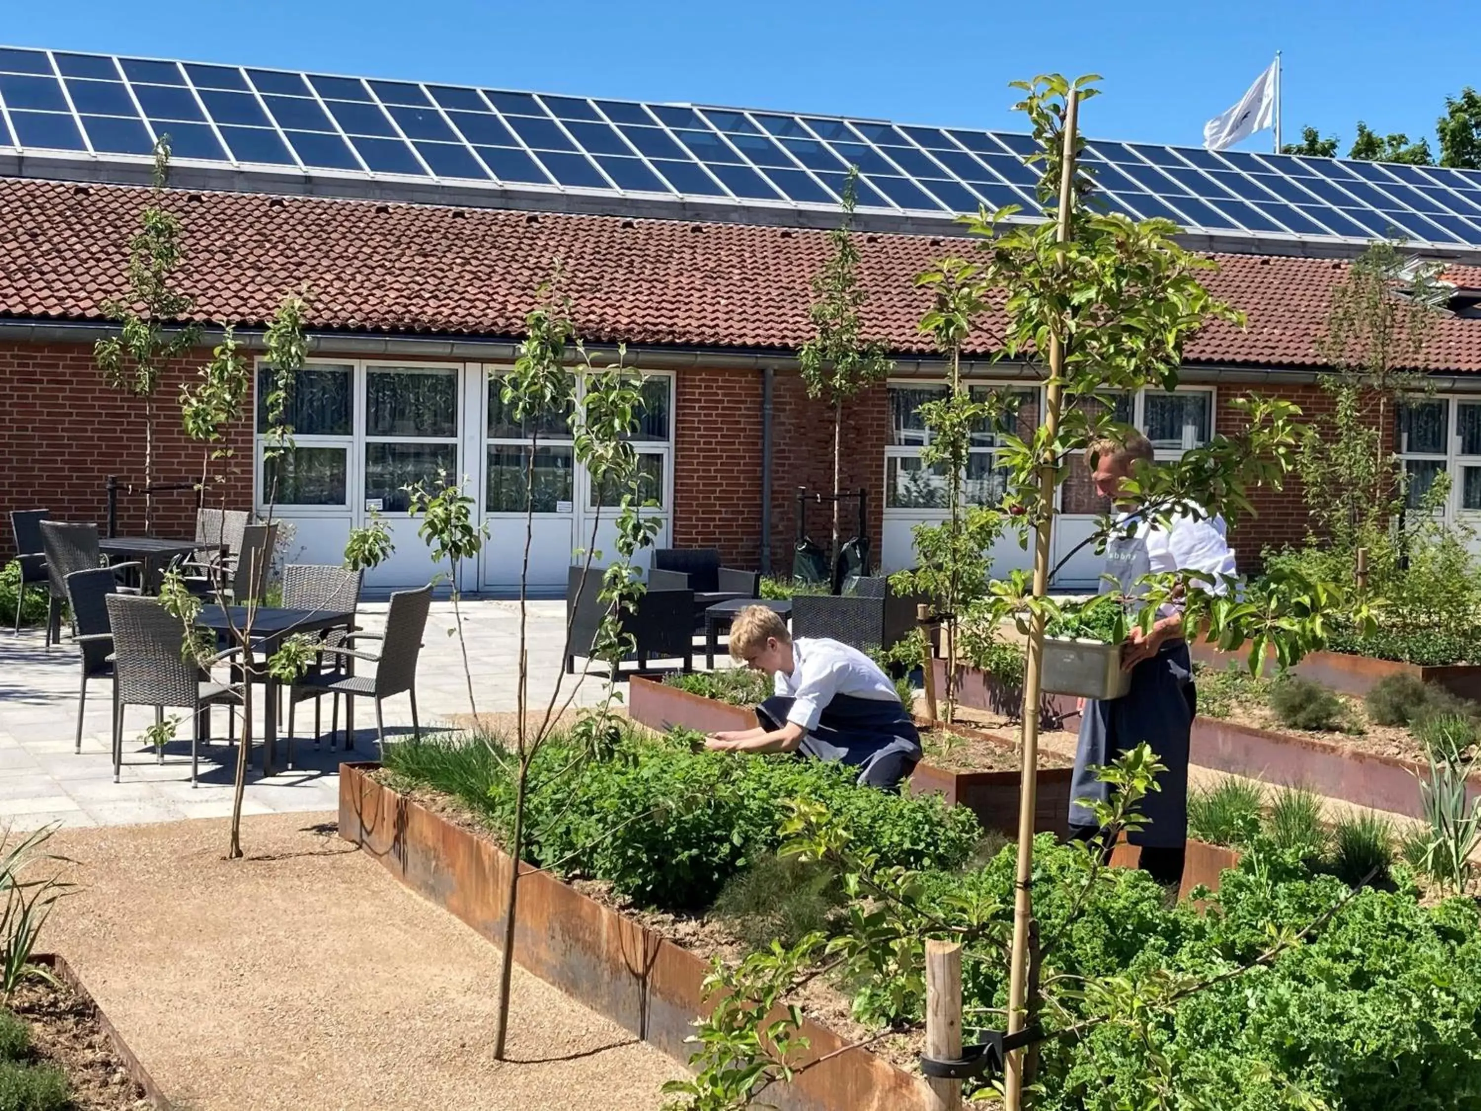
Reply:
[[[825,929],[841,902],[838,877],[822,865],[763,856],[726,881],[714,913],[752,950],[764,950],[773,939],[792,947]]]

